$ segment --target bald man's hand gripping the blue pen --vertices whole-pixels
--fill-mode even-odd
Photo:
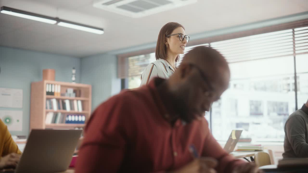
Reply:
[[[179,170],[172,173],[216,173],[214,167],[217,166],[217,160],[210,157],[202,157],[193,160]]]

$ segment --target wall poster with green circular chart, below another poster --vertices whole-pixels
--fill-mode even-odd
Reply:
[[[0,110],[0,119],[9,131],[22,131],[22,111]]]

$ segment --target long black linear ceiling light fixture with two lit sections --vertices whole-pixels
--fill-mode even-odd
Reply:
[[[68,27],[68,28],[72,28],[76,30],[87,31],[87,32],[95,33],[95,34],[104,34],[104,30],[102,28],[97,28],[93,26],[83,25],[80,23],[70,22],[70,21],[59,19],[59,18],[52,18],[49,16],[35,14],[35,13],[28,12],[28,11],[18,10],[18,9],[6,7],[6,6],[2,6],[0,9],[0,12],[3,14],[10,14],[13,16],[27,18],[27,19],[31,19],[31,20],[35,20],[39,22],[57,24],[59,26],[64,26],[64,27]]]

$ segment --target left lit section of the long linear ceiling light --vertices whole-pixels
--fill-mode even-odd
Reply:
[[[50,24],[56,24],[57,21],[56,20],[52,20],[52,19],[48,19],[50,17],[46,16],[46,18],[43,18],[43,17],[39,17],[39,16],[43,16],[43,15],[37,15],[37,16],[34,16],[34,15],[29,15],[31,13],[29,12],[24,12],[22,13],[21,10],[16,10],[16,12],[14,12],[14,9],[12,8],[1,8],[1,13],[4,13],[4,14],[10,14],[10,15],[13,15],[13,16],[17,16],[17,17],[21,17],[21,18],[27,18],[27,19],[31,19],[31,20],[36,20],[36,21],[39,21],[39,22],[45,22],[45,23],[50,23]],[[28,13],[28,14],[26,14]]]

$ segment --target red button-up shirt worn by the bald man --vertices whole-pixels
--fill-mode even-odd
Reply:
[[[219,161],[218,172],[245,163],[221,148],[205,119],[168,123],[156,86],[160,80],[123,91],[96,108],[84,130],[75,173],[172,171],[193,160],[191,144],[200,156]]]

